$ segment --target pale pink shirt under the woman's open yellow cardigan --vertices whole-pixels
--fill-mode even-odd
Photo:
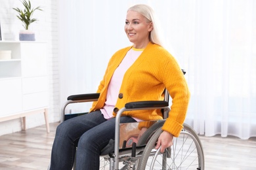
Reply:
[[[119,94],[119,89],[121,88],[121,83],[123,81],[123,76],[125,75],[125,72],[137,58],[139,58],[140,54],[142,53],[144,49],[137,49],[137,48],[131,48],[123,58],[123,61],[121,61],[120,65],[117,67],[116,71],[114,72],[110,84],[108,86],[108,93],[106,96],[106,102],[105,105],[100,111],[102,112],[104,118],[110,119],[113,117],[113,110],[116,105],[117,97]],[[137,120],[137,122],[140,122],[141,120],[134,118]]]

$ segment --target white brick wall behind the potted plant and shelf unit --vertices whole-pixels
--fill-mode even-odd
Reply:
[[[35,11],[34,17],[37,22],[31,25],[35,31],[36,41],[47,42],[49,60],[49,87],[50,108],[49,121],[56,122],[60,119],[59,102],[59,67],[58,67],[58,3],[50,0],[30,0],[32,7],[41,6],[43,11]],[[23,9],[22,3],[16,0],[0,0],[0,23],[3,41],[18,41],[18,33],[22,23],[16,18],[16,11],[12,8]],[[27,128],[45,124],[43,114],[33,114],[26,118]],[[0,135],[21,130],[21,120],[0,122]],[[51,129],[54,130],[54,129]]]

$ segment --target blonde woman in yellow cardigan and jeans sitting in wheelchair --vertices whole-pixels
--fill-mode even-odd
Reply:
[[[127,10],[125,33],[133,46],[118,50],[110,59],[90,113],[57,127],[51,169],[72,169],[75,152],[77,169],[98,169],[100,150],[114,139],[117,111],[131,101],[162,101],[165,87],[173,104],[156,148],[161,146],[163,152],[179,135],[190,93],[177,61],[161,46],[156,26],[147,5]],[[120,122],[160,119],[159,109],[137,110],[124,112]]]

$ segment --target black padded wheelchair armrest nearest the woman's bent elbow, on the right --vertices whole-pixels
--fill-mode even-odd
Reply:
[[[147,107],[167,107],[167,101],[136,101],[125,104],[126,109],[142,109]]]

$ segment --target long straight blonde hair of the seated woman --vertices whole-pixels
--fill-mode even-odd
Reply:
[[[148,5],[144,5],[144,4],[134,5],[133,7],[130,7],[127,11],[129,10],[139,12],[140,14],[142,14],[142,16],[144,16],[148,20],[148,22],[152,22],[153,29],[152,31],[150,31],[149,39],[152,43],[163,46],[160,40],[160,35],[159,35],[158,27],[156,24],[156,18],[154,16],[155,15],[154,10]]]

